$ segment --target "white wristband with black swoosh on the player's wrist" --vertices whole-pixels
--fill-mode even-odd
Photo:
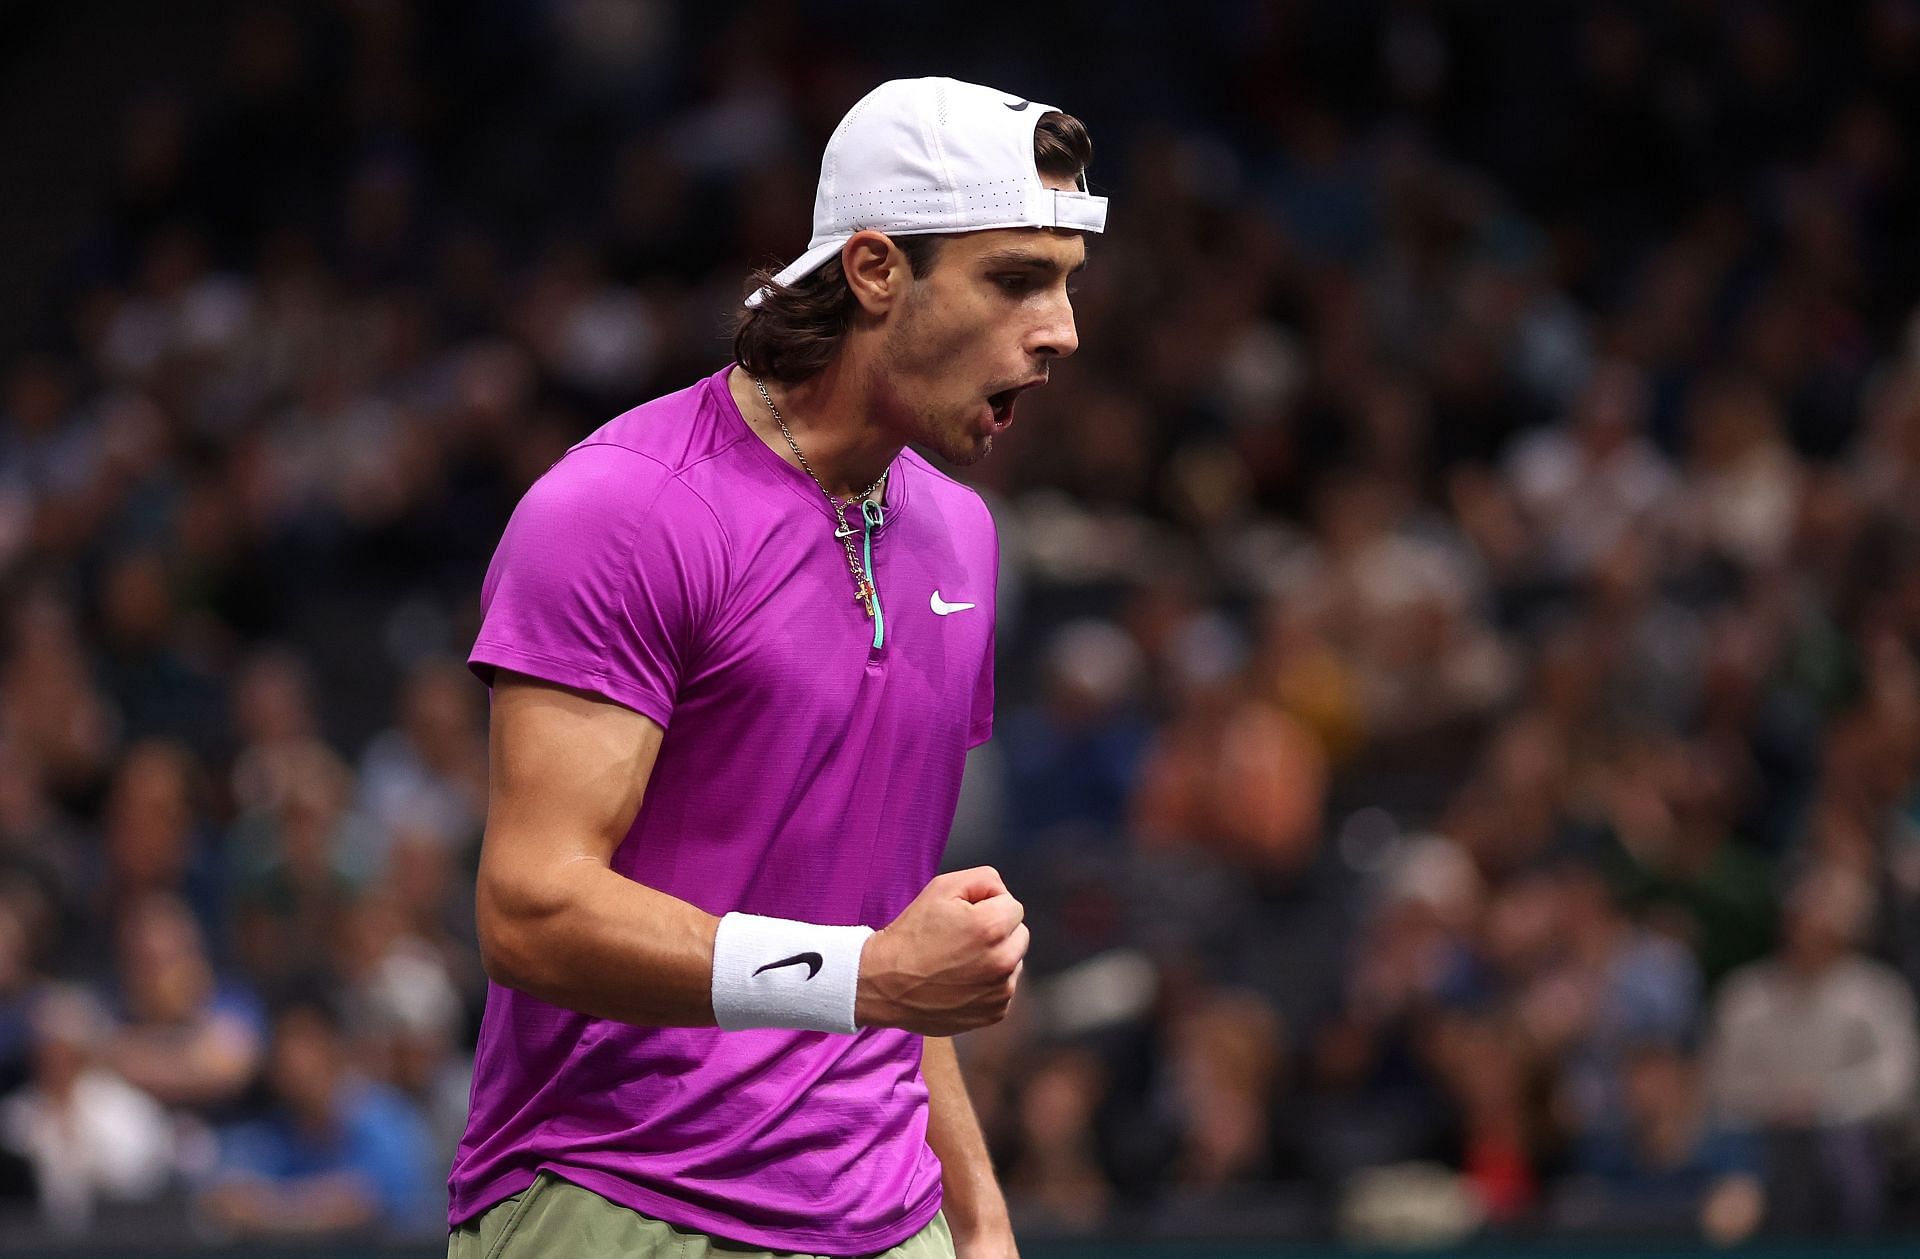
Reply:
[[[860,946],[872,927],[820,927],[728,914],[714,935],[714,1021],[852,1033]]]

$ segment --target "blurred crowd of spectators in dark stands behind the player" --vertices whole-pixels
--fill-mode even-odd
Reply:
[[[966,470],[1029,1236],[1920,1226],[1920,2],[972,8],[234,4],[136,84],[0,361],[0,1219],[444,1228],[493,541],[954,73],[1114,200]]]

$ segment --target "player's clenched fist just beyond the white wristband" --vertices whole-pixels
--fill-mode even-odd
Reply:
[[[1025,963],[1025,915],[987,866],[939,875],[866,938],[854,1023],[925,1036],[998,1023]]]

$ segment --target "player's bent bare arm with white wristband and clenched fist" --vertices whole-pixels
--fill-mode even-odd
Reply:
[[[745,914],[722,925],[614,871],[664,733],[593,695],[499,677],[474,898],[490,979],[643,1027],[948,1033],[1006,1015],[1027,929],[993,869],[935,877],[877,935]]]

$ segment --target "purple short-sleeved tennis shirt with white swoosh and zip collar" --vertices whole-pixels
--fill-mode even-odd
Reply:
[[[900,453],[876,649],[826,495],[726,382],[628,411],[528,489],[470,664],[666,727],[622,875],[708,914],[885,927],[937,873],[993,729],[993,520]],[[551,1171],[756,1247],[885,1249],[941,1205],[920,1050],[891,1029],[634,1027],[490,985],[449,1221]]]

